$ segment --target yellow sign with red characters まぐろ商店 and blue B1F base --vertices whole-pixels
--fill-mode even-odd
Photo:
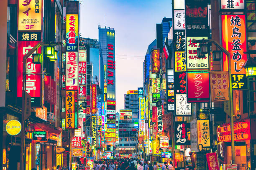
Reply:
[[[67,51],[78,50],[78,14],[66,15],[66,49]]]

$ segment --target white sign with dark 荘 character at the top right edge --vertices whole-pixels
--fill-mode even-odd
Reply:
[[[245,0],[221,0],[220,7],[222,10],[244,10]]]

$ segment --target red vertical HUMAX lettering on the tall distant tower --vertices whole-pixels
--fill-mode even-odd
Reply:
[[[114,58],[114,45],[108,44],[108,65],[107,65],[107,76],[108,85],[114,85],[114,73],[115,73],[115,58]]]

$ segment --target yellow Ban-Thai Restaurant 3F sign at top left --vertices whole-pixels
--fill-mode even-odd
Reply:
[[[18,30],[42,29],[42,0],[18,0]]]

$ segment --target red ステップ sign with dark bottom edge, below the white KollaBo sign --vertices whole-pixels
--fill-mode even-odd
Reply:
[[[210,102],[208,72],[187,72],[187,102]]]

